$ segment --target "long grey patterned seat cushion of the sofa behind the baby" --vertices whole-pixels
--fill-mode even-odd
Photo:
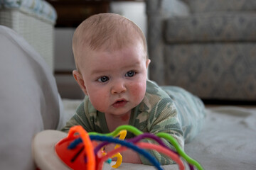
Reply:
[[[167,42],[233,42],[256,40],[256,13],[204,13],[169,18]]]

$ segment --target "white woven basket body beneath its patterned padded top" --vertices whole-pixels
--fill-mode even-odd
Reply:
[[[46,60],[53,72],[54,23],[39,18],[33,13],[4,8],[0,10],[0,25],[12,28],[23,36]]]

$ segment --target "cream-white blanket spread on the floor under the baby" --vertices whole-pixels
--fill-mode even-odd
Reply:
[[[64,99],[65,118],[75,113],[80,101]],[[256,169],[256,108],[234,106],[206,108],[203,130],[185,145],[185,152],[204,169]],[[164,169],[178,169],[176,165]],[[155,169],[122,163],[118,169]]]

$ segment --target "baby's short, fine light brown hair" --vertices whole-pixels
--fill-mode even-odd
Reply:
[[[78,69],[79,48],[89,50],[119,50],[141,40],[147,54],[142,30],[128,18],[115,13],[100,13],[83,21],[73,35],[73,53]],[[145,56],[146,57],[146,56]],[[79,71],[79,69],[78,69]]]

